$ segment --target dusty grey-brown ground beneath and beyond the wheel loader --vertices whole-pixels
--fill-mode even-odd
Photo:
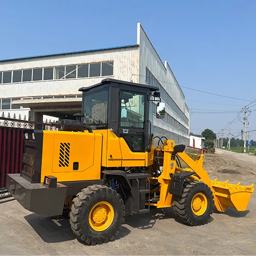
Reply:
[[[204,168],[211,178],[241,185],[256,183],[256,157],[217,150],[207,154]],[[68,220],[39,217],[15,200],[0,202],[2,255],[256,255],[256,192],[246,211],[214,213],[203,226],[186,226],[172,208],[126,217],[114,242],[79,243]]]

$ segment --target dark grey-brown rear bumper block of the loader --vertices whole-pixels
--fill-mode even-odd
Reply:
[[[57,183],[57,187],[47,187],[42,183],[30,183],[20,174],[8,174],[6,188],[27,210],[40,216],[61,215],[67,186]]]

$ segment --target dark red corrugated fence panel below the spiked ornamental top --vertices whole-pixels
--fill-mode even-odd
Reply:
[[[0,127],[0,188],[6,186],[7,174],[16,174],[22,169],[24,131]]]

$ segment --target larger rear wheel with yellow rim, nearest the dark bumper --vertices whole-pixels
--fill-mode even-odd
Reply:
[[[79,240],[96,245],[115,239],[124,216],[120,195],[109,187],[93,185],[82,189],[73,200],[70,225]]]

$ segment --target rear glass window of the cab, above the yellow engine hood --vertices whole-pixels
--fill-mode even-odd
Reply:
[[[83,122],[93,129],[106,129],[108,126],[108,93],[104,89],[83,95]]]

